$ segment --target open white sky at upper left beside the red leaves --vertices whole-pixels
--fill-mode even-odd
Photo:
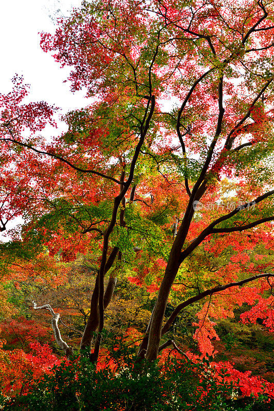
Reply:
[[[10,79],[18,73],[31,86],[30,101],[43,100],[62,108],[63,112],[87,104],[83,92],[72,94],[69,83],[63,83],[69,69],[60,69],[51,55],[40,49],[38,34],[53,33],[56,26],[51,17],[58,10],[70,15],[71,7],[80,4],[81,0],[0,0],[0,92],[10,91]],[[45,134],[58,134],[62,129],[64,126],[59,123],[59,130],[48,127]],[[16,222],[20,220],[8,223],[7,231]],[[7,237],[0,233],[0,240],[7,241]]]

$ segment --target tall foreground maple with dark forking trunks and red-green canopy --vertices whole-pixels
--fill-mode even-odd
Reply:
[[[217,271],[213,287],[192,284],[196,294],[162,325],[176,276],[203,245],[222,245],[231,233],[254,238],[258,227],[272,241],[272,20],[272,3],[260,0],[127,0],[123,7],[118,1],[83,2],[59,21],[55,35],[42,34],[41,45],[61,66],[72,67],[72,91],[86,87],[94,103],[68,113],[67,133],[48,143],[22,131],[41,129],[52,108],[20,105],[18,84],[12,95],[2,96],[3,167],[23,184],[18,190],[15,177],[5,178],[11,193],[5,210],[17,207],[29,220],[25,241],[36,236],[51,250],[61,241],[64,258],[71,257],[72,245],[84,252],[94,247],[97,277],[81,342],[90,347],[97,330],[93,361],[116,273],[125,256],[137,263],[132,248],[143,257],[149,250],[165,266],[140,357],[156,359],[161,337],[180,310],[227,289],[243,297],[249,288],[241,287],[257,282],[257,296],[270,290],[262,305],[271,317],[268,261],[228,275],[229,281]],[[172,104],[168,111],[165,99]],[[232,195],[225,178],[237,182],[241,195],[230,210],[220,207]],[[14,202],[21,195],[27,201]],[[205,202],[215,210],[201,210]],[[11,212],[5,213],[8,220]],[[153,237],[156,250],[148,240]]]

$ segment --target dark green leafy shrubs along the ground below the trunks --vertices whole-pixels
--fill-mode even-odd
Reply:
[[[115,353],[115,351],[113,352]],[[121,354],[123,357],[121,358]],[[124,355],[125,354],[125,355]],[[90,409],[135,411],[255,411],[263,399],[239,407],[231,401],[232,384],[217,381],[209,363],[192,364],[168,359],[158,363],[134,362],[129,350],[117,351],[99,369],[88,356],[54,366],[50,375],[33,381],[26,378],[27,394],[2,397],[4,411],[76,411]],[[101,368],[101,369],[100,369]],[[223,377],[226,373],[224,371]],[[263,408],[265,407],[265,408]]]

